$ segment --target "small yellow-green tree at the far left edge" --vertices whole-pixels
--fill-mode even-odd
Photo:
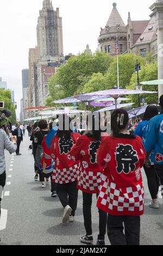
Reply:
[[[9,118],[11,123],[16,123],[15,106],[11,101],[11,91],[0,88],[0,101],[4,101],[4,108],[8,108],[11,111],[11,117]]]

